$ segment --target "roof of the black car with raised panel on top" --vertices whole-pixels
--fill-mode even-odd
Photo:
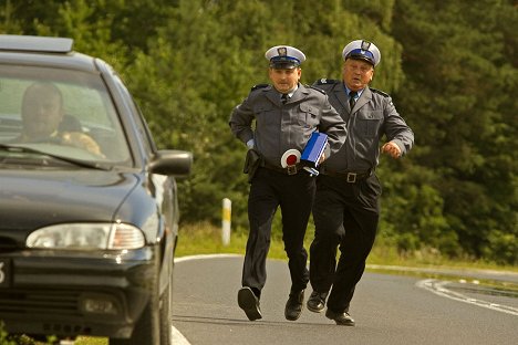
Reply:
[[[0,63],[97,71],[94,58],[73,50],[69,38],[0,34]]]

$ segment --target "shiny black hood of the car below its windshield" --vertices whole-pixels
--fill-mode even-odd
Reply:
[[[112,221],[141,178],[97,170],[0,170],[0,231]]]

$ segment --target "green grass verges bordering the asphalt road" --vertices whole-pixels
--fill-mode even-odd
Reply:
[[[311,240],[314,234],[314,228],[311,226],[308,227],[308,233],[305,236],[305,248],[309,249]],[[248,233],[242,231],[234,231],[230,236],[230,243],[225,245],[222,243],[221,229],[209,223],[197,223],[184,226],[180,228],[180,233],[176,248],[176,258],[187,257],[187,255],[199,255],[199,254],[217,254],[217,253],[229,253],[229,254],[244,254],[247,245]],[[426,269],[474,269],[474,270],[494,270],[494,271],[509,271],[518,272],[518,266],[503,266],[497,265],[491,262],[484,262],[478,260],[472,260],[470,258],[450,260],[444,258],[434,249],[423,249],[415,252],[405,252],[401,253],[395,248],[387,244],[388,241],[384,240],[382,237],[379,237],[374,248],[369,255],[367,265],[391,265],[391,266],[411,266],[411,268],[426,268]],[[273,260],[287,260],[286,252],[282,244],[281,238],[273,237],[271,239],[270,250],[268,253],[269,259]],[[384,272],[384,273],[394,273],[394,270],[383,270],[383,269],[369,269],[371,271]],[[417,276],[428,276],[428,278],[445,278],[453,279],[453,276],[442,276],[441,274],[431,274],[431,273],[419,273],[419,272],[405,272],[397,271],[398,274],[408,274]],[[503,286],[494,281],[480,281],[480,283],[496,286],[505,288],[518,291],[517,285]],[[0,327],[1,331],[1,327]],[[1,342],[1,332],[0,332],[0,345],[3,345]],[[6,343],[11,344],[11,343]],[[17,343],[12,343],[13,345]],[[18,343],[19,344],[19,343]],[[18,345],[17,344],[17,345]],[[43,345],[44,343],[27,343],[34,345]],[[105,337],[89,337],[81,336],[75,341],[74,345],[108,345],[108,339]]]

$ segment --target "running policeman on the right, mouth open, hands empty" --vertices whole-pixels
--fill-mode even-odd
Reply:
[[[374,174],[381,151],[393,158],[413,146],[414,134],[400,116],[391,97],[369,87],[381,53],[374,43],[355,40],[345,45],[342,80],[315,84],[348,124],[341,149],[325,160],[317,181],[313,207],[315,237],[310,248],[310,281],[313,292],[308,309],[322,312],[339,325],[353,326],[349,314],[356,283],[374,243],[380,218],[381,185]],[[336,248],[341,254],[336,265]]]

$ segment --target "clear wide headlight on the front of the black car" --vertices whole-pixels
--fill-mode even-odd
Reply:
[[[124,223],[70,223],[41,228],[27,238],[29,248],[41,249],[137,249],[145,245],[141,229]]]

